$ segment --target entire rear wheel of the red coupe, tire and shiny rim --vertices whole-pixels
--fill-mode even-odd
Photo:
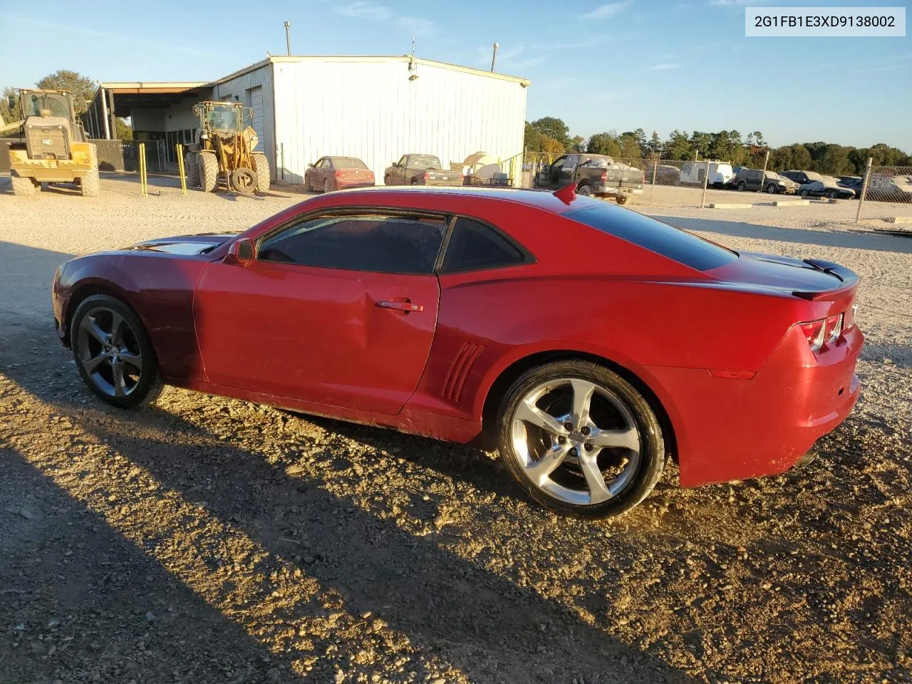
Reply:
[[[646,498],[665,467],[665,441],[647,399],[590,361],[528,370],[507,390],[498,427],[507,470],[558,513],[625,513]]]

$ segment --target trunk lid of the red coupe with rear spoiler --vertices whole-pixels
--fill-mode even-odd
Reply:
[[[715,269],[713,277],[744,285],[759,285],[791,293],[823,293],[854,285],[858,278],[847,268],[814,259],[739,253],[739,258]]]

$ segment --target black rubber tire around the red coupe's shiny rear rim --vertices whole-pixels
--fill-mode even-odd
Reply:
[[[617,451],[622,451],[627,454],[625,456],[625,458],[627,458],[627,464],[622,464],[621,473],[616,479],[612,479],[611,482],[605,482],[605,472],[602,470],[603,465],[602,462],[600,462],[603,461],[601,452],[605,450],[600,449],[595,452],[597,468],[601,472],[603,485],[610,490],[612,485],[619,482],[622,477],[624,478],[623,482],[620,482],[620,487],[617,492],[612,492],[610,498],[597,503],[571,503],[565,501],[565,499],[559,498],[559,494],[546,492],[542,488],[543,485],[535,484],[524,470],[524,468],[533,467],[533,465],[541,463],[544,459],[552,458],[554,451],[547,451],[552,447],[544,446],[541,439],[534,436],[534,430],[536,430],[534,425],[529,428],[528,424],[517,418],[517,410],[521,408],[520,405],[523,404],[528,395],[539,391],[542,386],[550,383],[563,383],[565,381],[570,383],[573,380],[584,380],[586,383],[592,383],[596,386],[600,398],[603,396],[606,398],[613,398],[601,400],[603,402],[610,402],[610,404],[606,405],[623,407],[626,410],[626,417],[623,419],[625,424],[632,423],[632,425],[627,425],[627,427],[636,428],[637,430],[636,461],[634,465],[630,466],[631,470],[629,472],[625,469],[634,459],[633,451],[626,451],[626,448],[624,447],[613,448],[611,451],[606,451],[605,458],[607,461],[620,459]],[[592,397],[593,399],[590,400],[590,406],[593,408],[592,415],[596,416],[596,394],[593,394]],[[554,389],[545,390],[541,399],[538,400],[546,402],[552,400],[552,398],[557,398],[554,399],[555,401],[565,400],[560,399],[559,391],[555,391]],[[616,399],[617,404],[615,403]],[[525,405],[527,406],[528,404]],[[555,413],[558,415],[562,413],[565,408],[566,404],[563,409],[558,409],[557,405],[554,405]],[[545,409],[539,409],[547,412]],[[560,420],[563,419],[558,418],[558,415],[552,415],[551,418],[560,426]],[[607,414],[603,413],[601,415]],[[621,414],[618,413],[618,415]],[[522,429],[523,436],[518,438],[518,442],[514,434],[514,422],[517,420],[524,426]],[[602,419],[600,418],[599,420]],[[595,418],[593,418],[593,422],[595,422]],[[596,425],[596,428],[593,430],[614,429],[615,428],[612,428],[610,425],[603,422],[601,425]],[[540,434],[547,435],[544,430],[537,430],[541,430]],[[567,433],[570,437],[555,439],[563,439],[564,441],[561,442],[562,444],[568,442],[568,440],[591,439],[591,437],[584,436],[590,434],[586,430],[588,429],[577,425],[573,428],[572,432]],[[595,434],[596,432],[592,432],[592,435]],[[536,368],[531,368],[523,373],[520,378],[513,382],[513,385],[503,396],[497,416],[497,435],[499,451],[503,463],[510,474],[513,475],[513,479],[519,484],[523,492],[528,494],[535,502],[540,503],[545,508],[556,513],[564,513],[581,518],[606,518],[626,513],[647,497],[648,493],[656,486],[656,482],[658,482],[658,479],[665,468],[665,440],[662,435],[658,417],[652,407],[650,407],[648,400],[645,399],[633,385],[627,382],[627,380],[617,375],[617,373],[592,361],[584,361],[581,359],[556,361]],[[532,448],[540,449],[544,446],[544,456],[542,456],[541,459],[535,459],[531,464],[523,466],[522,461],[524,456],[520,451],[517,451],[517,443],[524,444],[525,446],[522,448],[527,450]],[[553,448],[558,449],[562,447]],[[580,449],[582,450],[582,446]],[[588,447],[586,447],[586,451],[589,451]],[[570,453],[573,454],[573,451]],[[565,458],[567,460],[560,461],[560,464],[554,468],[553,472],[549,471],[549,474],[545,475],[548,482],[553,483],[551,476],[556,473],[561,476],[562,479],[566,480],[569,478],[572,483],[575,482],[583,487],[588,487],[588,478],[584,478],[582,468],[578,464],[575,465],[571,462],[570,457]],[[575,458],[575,456],[573,458]],[[576,472],[574,472],[574,468],[576,469]],[[564,491],[580,493],[576,492],[572,487],[570,489],[565,489]],[[595,498],[592,495],[591,490],[586,496],[590,501]]]

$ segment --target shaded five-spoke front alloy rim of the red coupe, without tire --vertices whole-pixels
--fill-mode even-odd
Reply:
[[[78,361],[91,382],[109,397],[129,397],[142,377],[142,354],[136,332],[123,316],[99,306],[82,317],[77,339]]]

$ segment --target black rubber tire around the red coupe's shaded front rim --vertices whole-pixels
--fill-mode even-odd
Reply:
[[[129,326],[129,335],[127,332],[121,332],[119,335],[120,341],[123,342],[122,348],[124,350],[129,350],[134,357],[139,354],[141,359],[141,370],[132,372],[135,371],[136,368],[130,367],[132,369],[130,373],[137,377],[135,379],[130,378],[130,381],[123,385],[125,391],[124,396],[115,396],[102,386],[102,383],[105,383],[111,388],[111,391],[117,391],[113,389],[113,382],[101,377],[102,372],[107,368],[102,368],[102,366],[104,366],[103,363],[98,364],[98,368],[101,368],[101,370],[93,375],[89,375],[85,365],[86,361],[95,356],[86,353],[87,351],[90,352],[88,345],[90,345],[93,340],[97,343],[98,339],[88,333],[88,330],[83,332],[80,329],[84,319],[86,319],[87,316],[90,316],[91,320],[98,322],[98,319],[101,319],[104,316],[111,316],[112,314],[119,315],[124,323]],[[103,327],[101,327],[102,325],[102,323],[98,323],[98,327],[104,332]],[[112,328],[113,327],[115,326],[112,325]],[[120,329],[123,330],[123,328]],[[88,345],[83,343],[82,337],[86,337]],[[161,391],[164,389],[164,380],[161,377],[158,359],[155,357],[155,350],[152,348],[146,329],[142,325],[140,317],[133,312],[130,306],[127,306],[118,298],[109,295],[92,295],[82,300],[82,302],[79,303],[79,306],[77,306],[76,312],[73,314],[73,319],[70,324],[69,339],[70,345],[73,348],[73,357],[76,359],[79,375],[82,377],[83,382],[88,385],[88,389],[91,389],[95,395],[105,403],[116,406],[119,409],[133,409],[142,404],[150,403],[151,401],[158,399],[161,395]],[[100,345],[98,346],[100,347]],[[120,365],[121,368],[124,368],[122,361],[120,362]],[[110,368],[113,368],[113,364],[110,364]],[[121,374],[122,373],[123,371],[121,371]],[[126,387],[127,384],[130,384],[130,387]]]

